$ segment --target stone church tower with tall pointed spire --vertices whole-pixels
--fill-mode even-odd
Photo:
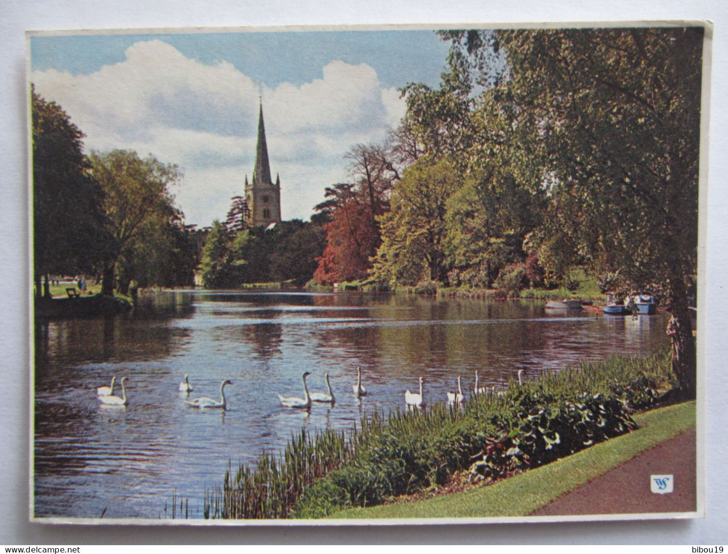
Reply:
[[[258,116],[258,147],[256,150],[256,166],[253,169],[253,182],[245,176],[245,200],[250,210],[250,227],[268,226],[280,222],[280,178],[276,175],[275,183],[271,178],[268,161],[268,145],[266,145],[266,128],[263,124],[263,103],[261,101]]]

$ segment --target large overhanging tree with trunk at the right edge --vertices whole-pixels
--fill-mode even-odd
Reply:
[[[673,372],[695,397],[703,28],[500,31],[518,124],[542,153],[543,241],[624,286],[665,287]],[[542,252],[539,252],[539,255]]]

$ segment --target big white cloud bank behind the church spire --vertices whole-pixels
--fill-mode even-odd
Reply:
[[[132,149],[181,166],[173,192],[187,221],[202,226],[223,219],[252,176],[259,94],[287,219],[308,219],[324,188],[345,179],[349,147],[383,139],[403,116],[399,93],[382,88],[369,65],[332,60],[322,71],[322,79],[260,91],[231,63],[204,65],[153,40],[95,73],[35,71],[32,81],[86,133],[88,150]]]

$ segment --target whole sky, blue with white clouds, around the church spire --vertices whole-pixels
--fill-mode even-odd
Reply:
[[[282,218],[308,220],[344,155],[405,113],[397,89],[438,87],[448,44],[433,31],[33,35],[29,79],[84,145],[176,164],[187,224],[224,220],[252,178],[262,102]]]

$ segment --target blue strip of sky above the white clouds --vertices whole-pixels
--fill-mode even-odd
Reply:
[[[256,33],[151,33],[31,37],[34,71],[54,68],[72,75],[122,63],[135,42],[167,42],[207,65],[227,60],[267,87],[320,78],[331,60],[371,65],[385,87],[418,81],[438,85],[448,44],[435,31],[291,31]]]

